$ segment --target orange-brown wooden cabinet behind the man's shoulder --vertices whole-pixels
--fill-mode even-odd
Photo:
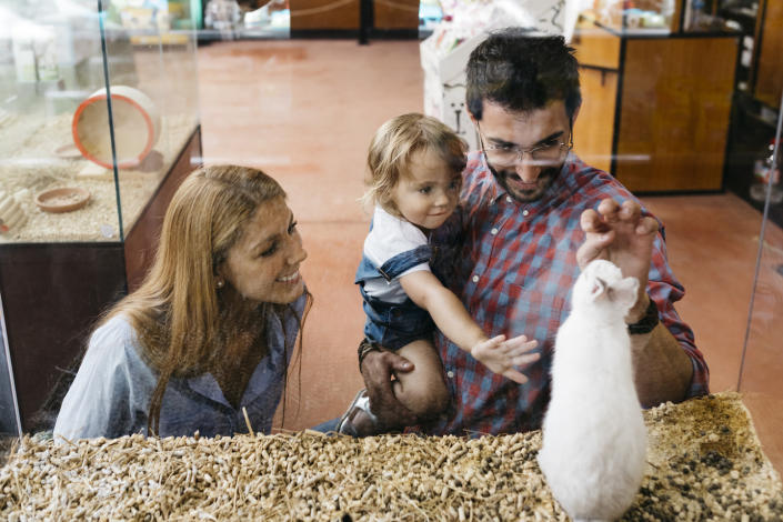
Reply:
[[[633,192],[722,190],[737,40],[580,24],[576,154]]]

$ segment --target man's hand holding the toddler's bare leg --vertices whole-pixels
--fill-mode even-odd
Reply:
[[[398,401],[392,390],[392,375],[413,371],[413,363],[393,352],[373,350],[364,355],[360,368],[370,399],[370,410],[385,429],[413,425],[416,415]]]

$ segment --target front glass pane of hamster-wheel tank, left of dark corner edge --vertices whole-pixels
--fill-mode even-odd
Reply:
[[[104,87],[94,3],[2,0],[0,18],[1,239],[117,241],[113,179],[94,180],[74,141],[74,112]]]

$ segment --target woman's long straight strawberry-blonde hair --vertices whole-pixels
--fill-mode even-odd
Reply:
[[[227,310],[215,290],[217,269],[259,207],[278,198],[285,198],[283,189],[258,169],[210,165],[191,173],[169,204],[158,252],[143,283],[106,314],[103,322],[118,314],[130,319],[142,357],[160,374],[150,399],[150,434],[158,432],[169,379],[209,371],[225,344],[219,335],[239,333],[237,314]],[[309,294],[307,299],[300,328],[312,300]],[[290,305],[262,303],[253,312],[257,324],[265,325],[270,314],[285,324],[287,309]],[[260,334],[258,342],[265,342],[265,335]],[[300,332],[300,351],[301,344]]]

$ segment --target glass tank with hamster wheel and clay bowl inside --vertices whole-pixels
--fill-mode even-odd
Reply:
[[[192,137],[190,4],[135,4],[0,1],[0,241],[122,241]]]

